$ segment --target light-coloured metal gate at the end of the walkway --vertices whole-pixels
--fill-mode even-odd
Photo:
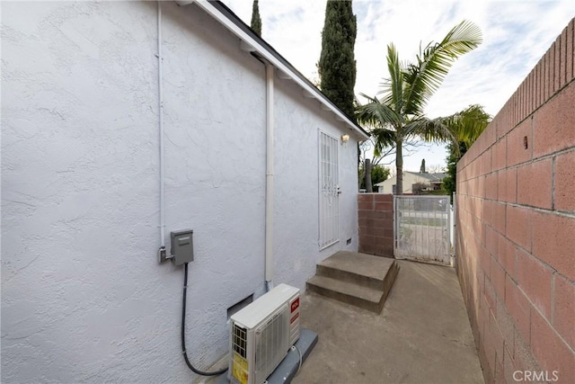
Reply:
[[[394,256],[449,265],[449,196],[394,196]]]

